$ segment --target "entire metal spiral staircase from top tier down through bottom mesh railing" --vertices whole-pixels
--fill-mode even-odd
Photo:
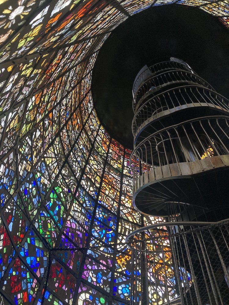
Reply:
[[[126,239],[131,304],[228,305],[229,101],[171,58],[139,72],[133,111],[133,205],[167,222]]]

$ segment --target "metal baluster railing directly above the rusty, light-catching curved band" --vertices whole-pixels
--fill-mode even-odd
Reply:
[[[226,116],[202,117],[163,128],[146,138],[143,136],[132,152],[133,190],[136,191],[140,177],[149,171],[154,171],[151,177],[156,179],[158,167],[176,163],[179,168],[179,164],[185,162],[191,173],[191,163],[206,158],[211,162],[211,157],[215,156],[224,166],[225,155],[229,155],[229,118]]]

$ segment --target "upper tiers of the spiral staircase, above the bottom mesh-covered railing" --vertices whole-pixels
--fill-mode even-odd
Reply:
[[[187,64],[170,61],[136,78],[133,110],[133,205],[139,211],[167,216],[170,203],[201,211],[229,203],[227,99]]]

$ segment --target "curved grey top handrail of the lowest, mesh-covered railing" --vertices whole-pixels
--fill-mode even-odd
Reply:
[[[170,221],[170,222],[161,222],[159,224],[151,224],[150,226],[139,228],[132,233],[128,234],[125,238],[125,242],[127,243],[129,238],[137,233],[141,233],[146,230],[151,230],[155,228],[161,228],[161,227],[172,227],[172,226],[181,226],[181,225],[188,225],[188,226],[212,226],[217,224],[224,224],[229,222],[229,218],[218,221],[218,222],[205,222],[205,221]]]

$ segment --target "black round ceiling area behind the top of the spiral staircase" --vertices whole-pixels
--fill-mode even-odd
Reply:
[[[105,41],[92,78],[98,118],[127,148],[133,148],[133,81],[145,64],[170,56],[187,62],[218,93],[229,97],[229,31],[218,18],[173,4],[131,16]]]

